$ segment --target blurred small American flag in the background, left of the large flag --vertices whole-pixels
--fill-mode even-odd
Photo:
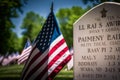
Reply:
[[[18,57],[18,64],[25,63],[32,49],[30,40],[27,40],[21,55]]]

